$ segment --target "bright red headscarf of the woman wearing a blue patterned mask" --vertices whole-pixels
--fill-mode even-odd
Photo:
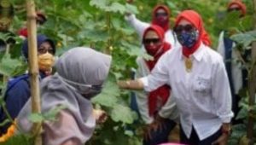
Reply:
[[[183,19],[188,20],[199,31],[199,36],[196,44],[190,49],[183,48],[183,55],[189,57],[189,55],[192,55],[195,50],[199,48],[201,42],[209,46],[211,45],[211,40],[203,26],[203,21],[200,14],[198,14],[194,10],[184,10],[182,13],[177,15],[175,26],[177,26],[180,20]]]

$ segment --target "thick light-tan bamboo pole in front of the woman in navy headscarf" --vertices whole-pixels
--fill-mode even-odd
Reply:
[[[35,3],[26,0],[27,32],[28,32],[28,63],[31,86],[32,113],[41,113],[38,80],[38,44]],[[32,133],[36,136],[35,145],[42,145],[41,123],[32,125]]]

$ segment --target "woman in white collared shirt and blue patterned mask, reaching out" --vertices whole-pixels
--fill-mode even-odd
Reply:
[[[201,16],[194,10],[179,14],[174,30],[182,46],[162,55],[147,77],[119,81],[119,87],[152,91],[170,84],[180,115],[181,142],[225,144],[233,113],[223,58],[206,45]]]

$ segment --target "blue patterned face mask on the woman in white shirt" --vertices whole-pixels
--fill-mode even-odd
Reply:
[[[198,31],[181,32],[177,34],[178,42],[186,48],[192,48],[198,39]]]

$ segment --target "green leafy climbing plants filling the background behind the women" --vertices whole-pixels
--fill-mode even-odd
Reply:
[[[15,4],[15,20],[11,26],[12,32],[26,25],[26,4],[23,0],[11,0]],[[54,38],[57,44],[57,55],[61,55],[67,49],[76,46],[88,46],[113,56],[108,82],[102,94],[96,96],[93,102],[96,107],[107,110],[109,118],[107,123],[96,129],[95,136],[88,144],[109,145],[136,145],[141,144],[142,134],[140,124],[132,124],[137,119],[137,114],[129,107],[129,92],[119,90],[115,84],[120,78],[130,78],[131,67],[136,67],[136,57],[144,55],[140,49],[137,33],[124,19],[127,10],[137,14],[140,20],[150,21],[151,10],[157,3],[165,3],[172,11],[172,26],[175,16],[183,9],[197,10],[204,22],[207,32],[212,38],[212,49],[218,44],[218,34],[222,30],[235,30],[240,34],[236,41],[246,47],[255,40],[244,39],[248,30],[252,30],[253,1],[247,3],[248,17],[238,21],[236,14],[224,19],[228,0],[135,0],[132,5],[125,0],[42,0],[36,1],[37,9],[43,11],[48,21],[38,29],[38,33],[44,33],[49,38]],[[19,39],[19,38],[17,38]],[[7,76],[15,76],[24,72],[24,64],[20,61],[20,43],[12,48],[11,55],[3,56],[0,61],[0,72]],[[243,45],[245,44],[245,45]],[[26,68],[26,67],[25,67]],[[4,82],[2,83],[4,88]],[[1,101],[3,103],[3,100]],[[247,119],[247,93],[245,93],[241,105],[243,109],[240,115],[245,124],[235,126],[230,144],[236,144],[245,135]],[[255,133],[256,134],[256,133]],[[18,139],[17,139],[18,138]],[[19,137],[11,142],[20,142]],[[20,137],[25,144],[24,137]],[[15,144],[15,143],[12,143]],[[29,144],[29,143],[28,143]]]

